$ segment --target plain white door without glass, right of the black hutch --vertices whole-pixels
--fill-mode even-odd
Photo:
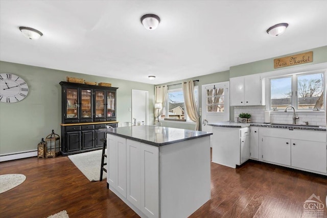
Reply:
[[[132,118],[131,122],[144,122],[149,124],[149,91],[132,89]],[[130,122],[130,121],[129,121]]]

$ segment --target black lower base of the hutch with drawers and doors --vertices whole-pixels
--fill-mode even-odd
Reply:
[[[77,154],[85,151],[102,149],[105,133],[100,129],[106,126],[117,127],[116,123],[61,126],[61,153],[62,155]]]

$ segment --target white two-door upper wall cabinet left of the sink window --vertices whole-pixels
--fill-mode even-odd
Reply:
[[[230,106],[265,105],[265,86],[259,74],[230,78]]]

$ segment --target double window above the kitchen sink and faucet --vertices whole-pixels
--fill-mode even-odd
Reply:
[[[270,79],[270,109],[323,109],[323,72]]]

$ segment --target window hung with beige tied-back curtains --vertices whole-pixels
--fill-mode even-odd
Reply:
[[[198,86],[194,86],[194,97],[199,111]],[[174,119],[180,121],[186,121],[186,120],[191,121],[188,118],[188,114],[186,112],[182,88],[168,90],[167,102],[159,118]]]

